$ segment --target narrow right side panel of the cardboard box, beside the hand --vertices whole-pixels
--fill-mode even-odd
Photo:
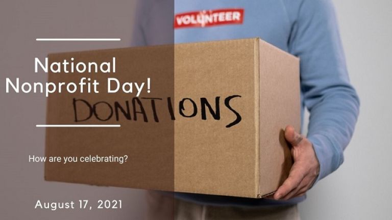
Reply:
[[[275,191],[288,177],[292,160],[284,128],[292,125],[300,130],[301,107],[299,59],[261,40],[259,49],[262,196]]]

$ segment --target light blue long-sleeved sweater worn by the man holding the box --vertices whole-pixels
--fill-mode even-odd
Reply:
[[[349,81],[331,1],[178,0],[174,4],[173,0],[142,0],[136,13],[133,45],[261,37],[299,57],[302,114],[307,107],[308,139],[320,162],[317,181],[335,171],[343,162],[343,151],[354,132],[359,99]],[[209,11],[219,9],[229,9],[229,13],[220,16],[219,11]],[[241,9],[243,12],[238,15]],[[207,11],[202,14],[209,17],[188,13],[203,10]],[[173,13],[178,16],[174,18]],[[234,13],[237,14],[233,16]],[[202,21],[207,23],[205,27],[199,25]],[[173,23],[180,28],[173,31]],[[292,204],[304,199],[281,202],[195,194],[177,196],[200,203],[245,206]]]

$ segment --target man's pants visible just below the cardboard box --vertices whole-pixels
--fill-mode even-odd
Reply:
[[[149,198],[149,220],[300,220],[297,205],[248,208],[200,205],[159,194]]]

